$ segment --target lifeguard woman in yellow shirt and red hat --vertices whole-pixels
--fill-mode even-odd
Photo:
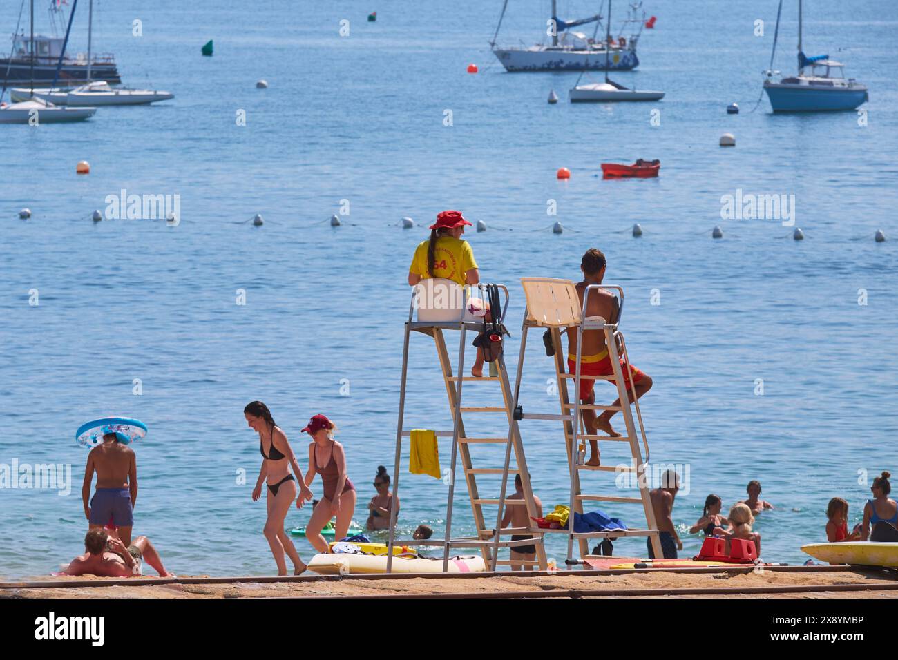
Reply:
[[[409,267],[409,286],[430,277],[451,279],[459,286],[480,283],[480,270],[471,243],[462,241],[465,226],[471,226],[471,223],[458,211],[443,211],[436,216],[436,224],[430,225],[430,238],[415,249]],[[480,348],[471,374],[483,375],[483,351]]]

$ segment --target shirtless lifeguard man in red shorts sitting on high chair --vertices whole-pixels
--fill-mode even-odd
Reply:
[[[580,305],[583,305],[583,296],[586,287],[594,284],[602,284],[605,277],[605,255],[595,248],[590,248],[583,255],[580,261],[580,270],[583,271],[583,281],[577,284],[577,295],[580,297]],[[618,300],[610,292],[604,289],[591,291],[589,293],[589,306],[586,308],[586,316],[601,316],[606,322],[614,324],[618,320]],[[571,374],[577,371],[577,330],[576,327],[568,328],[568,369]],[[648,392],[652,387],[652,379],[635,366],[624,362],[621,357],[621,371],[623,372],[624,383],[627,386],[628,399],[631,396],[629,383],[629,370],[633,372],[633,387],[636,390],[636,398]],[[614,370],[611,359],[608,357],[608,348],[605,347],[605,333],[602,330],[584,330],[583,332],[583,352],[580,356],[580,374],[581,375],[613,375]],[[614,381],[610,381],[614,383]],[[593,405],[595,403],[595,392],[593,392],[595,381],[592,379],[580,380],[580,403],[585,405]],[[618,399],[612,403],[612,406],[620,406],[621,400]],[[598,431],[604,431],[609,436],[620,436],[612,428],[612,417],[614,410],[604,410],[601,415],[596,415],[594,410],[583,410],[583,421],[586,432],[591,435],[598,435]],[[590,440],[590,455],[586,465],[599,465],[599,444],[595,440]]]

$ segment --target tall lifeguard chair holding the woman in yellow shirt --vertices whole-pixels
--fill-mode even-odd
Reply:
[[[461,300],[461,303],[441,304],[440,309],[431,309],[427,302],[422,303],[422,289],[418,286],[427,285],[431,290],[436,286],[443,286],[449,292],[444,297],[445,300]],[[402,350],[402,380],[400,387],[399,400],[399,421],[396,427],[396,453],[393,464],[392,487],[393,494],[398,495],[401,476],[401,453],[403,438],[411,435],[411,429],[405,427],[405,400],[406,388],[408,384],[409,372],[409,343],[412,333],[420,333],[434,339],[436,344],[436,356],[439,360],[440,369],[443,374],[446,395],[449,400],[450,409],[453,415],[453,429],[451,431],[436,431],[437,442],[440,438],[452,438],[452,450],[450,454],[450,467],[447,477],[450,479],[448,484],[448,500],[446,503],[445,517],[445,538],[442,541],[401,541],[402,545],[410,546],[434,546],[443,549],[443,572],[448,570],[448,562],[450,552],[454,548],[476,548],[483,555],[484,562],[488,567],[495,570],[497,563],[502,565],[522,564],[521,561],[503,560],[497,561],[497,551],[499,548],[511,548],[519,545],[535,545],[537,556],[536,563],[541,570],[547,568],[546,553],[542,545],[542,536],[539,531],[533,532],[533,539],[524,539],[511,541],[503,540],[502,537],[511,534],[526,534],[532,531],[529,528],[506,528],[501,529],[502,515],[505,506],[526,506],[528,516],[536,516],[536,503],[533,500],[533,490],[530,486],[530,476],[527,471],[527,462],[524,458],[524,445],[521,442],[521,436],[517,432],[516,427],[506,434],[506,429],[512,422],[513,405],[511,383],[508,380],[506,372],[505,360],[499,357],[494,361],[496,365],[495,374],[484,377],[465,376],[464,374],[464,353],[465,344],[472,337],[471,332],[475,335],[480,332],[483,327],[482,318],[478,319],[469,309],[471,301],[471,292],[479,291],[480,299],[483,298],[483,292],[487,285],[478,285],[475,287],[462,287],[455,284],[451,280],[440,278],[428,278],[422,280],[422,284],[416,286],[415,292],[412,294],[412,301],[409,305],[409,317],[405,323],[405,344]],[[505,302],[501,310],[494,310],[492,313],[498,313],[499,321],[505,318],[508,309],[508,289],[506,286],[497,285],[499,290],[505,295]],[[427,295],[424,296],[427,299]],[[477,297],[473,296],[476,300]],[[415,312],[418,311],[418,320],[414,319]],[[446,348],[445,331],[459,330],[459,348],[457,370],[453,370],[453,361],[449,356],[449,350]],[[458,375],[455,375],[458,374]],[[462,405],[462,383],[499,383],[502,393],[501,406],[464,406]],[[502,415],[500,422],[501,431],[489,433],[469,433],[462,419],[463,415]],[[471,425],[473,427],[474,425]],[[424,425],[427,428],[429,425]],[[484,444],[504,444],[506,448],[506,461],[503,467],[474,467],[471,448]],[[475,450],[476,452],[476,450]],[[515,465],[510,464],[510,457],[514,453]],[[471,498],[471,512],[474,517],[474,524],[477,529],[477,536],[453,538],[453,497],[455,490],[455,473],[457,468],[457,459],[461,457],[462,472],[468,487],[468,494]],[[523,499],[506,500],[506,482],[509,474],[520,474],[522,481],[522,489],[524,493]],[[480,475],[501,475],[502,488],[499,497],[481,497],[480,486],[477,478]],[[484,506],[497,506],[498,513],[496,517],[495,528],[487,525],[487,515],[484,513]],[[396,509],[392,507],[390,513],[390,537],[387,543],[387,573],[392,572],[393,561],[393,545],[395,543],[395,526],[396,526]],[[531,562],[526,562],[531,563]]]

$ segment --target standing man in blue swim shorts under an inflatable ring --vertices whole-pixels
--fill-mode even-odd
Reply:
[[[97,490],[88,503],[94,472]],[[117,433],[105,434],[103,442],[87,455],[81,497],[89,529],[102,528],[111,519],[118,528],[119,538],[128,547],[137,499],[137,462],[134,450],[123,444]]]

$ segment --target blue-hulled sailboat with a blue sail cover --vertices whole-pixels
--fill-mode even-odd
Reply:
[[[782,0],[779,0],[782,9]],[[779,12],[777,13],[777,30],[779,33]],[[774,112],[822,112],[834,110],[855,110],[858,105],[868,101],[867,85],[860,84],[854,78],[846,79],[841,62],[833,61],[828,55],[807,57],[801,44],[802,38],[802,0],[798,0],[798,75],[782,78],[779,83],[773,82],[773,76],[779,71],[772,68],[764,72],[764,92],[770,100]],[[773,51],[770,54],[770,66],[776,54],[777,40],[773,39]],[[810,75],[805,69],[810,68]]]

